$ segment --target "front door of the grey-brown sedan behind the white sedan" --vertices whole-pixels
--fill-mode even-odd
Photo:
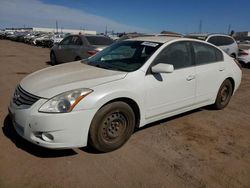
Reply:
[[[59,62],[69,61],[69,45],[72,40],[72,36],[64,38],[58,45],[58,49],[55,51],[56,58]]]

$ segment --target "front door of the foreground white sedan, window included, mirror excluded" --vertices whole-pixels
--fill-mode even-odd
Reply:
[[[172,73],[145,76],[146,119],[157,120],[191,107],[195,100],[195,67],[189,42],[165,47],[152,63],[172,64]]]

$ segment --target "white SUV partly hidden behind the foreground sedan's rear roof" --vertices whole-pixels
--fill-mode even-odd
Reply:
[[[231,36],[223,34],[190,34],[187,37],[204,40],[211,44],[214,44],[233,58],[237,58],[238,56],[238,44]]]

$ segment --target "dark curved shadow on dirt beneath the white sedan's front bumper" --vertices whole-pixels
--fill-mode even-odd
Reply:
[[[56,157],[72,156],[77,154],[72,149],[63,149],[63,150],[46,149],[26,141],[16,133],[12,120],[9,115],[7,115],[4,119],[4,126],[2,127],[2,131],[4,135],[16,145],[16,147],[36,157],[56,158]]]

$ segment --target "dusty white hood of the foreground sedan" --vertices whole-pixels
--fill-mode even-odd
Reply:
[[[33,95],[51,98],[65,91],[92,88],[119,80],[126,75],[126,72],[102,69],[76,61],[34,72],[25,77],[20,85]]]

